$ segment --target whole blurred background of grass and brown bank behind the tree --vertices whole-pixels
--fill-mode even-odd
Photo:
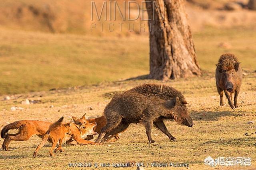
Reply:
[[[141,4],[142,0],[137,1]],[[123,2],[118,0],[120,8]],[[103,0],[95,3],[100,10]],[[214,72],[218,57],[226,52],[234,53],[244,70],[256,70],[256,11],[247,4],[248,0],[184,3],[205,73]],[[136,17],[136,6],[131,9],[131,16]],[[116,21],[91,21],[90,0],[1,2],[0,95],[148,74],[147,22],[141,16],[136,21],[117,16]],[[120,22],[124,23],[122,31]],[[97,25],[93,31],[92,23]],[[114,23],[113,32],[108,31],[109,23]],[[145,24],[145,32],[140,31],[140,23]],[[134,31],[129,31],[128,24],[134,24]]]

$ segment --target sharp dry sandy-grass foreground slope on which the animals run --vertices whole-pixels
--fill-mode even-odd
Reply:
[[[65,152],[58,152],[53,158],[49,156],[50,144],[47,144],[38,152],[38,156],[33,158],[32,154],[41,141],[35,136],[26,142],[11,143],[10,151],[1,150],[0,169],[73,169],[69,168],[68,164],[78,162],[92,162],[93,164],[95,162],[144,162],[144,164],[180,162],[189,163],[189,168],[196,170],[210,168],[203,163],[207,156],[212,156],[212,158],[251,157],[252,166],[249,168],[232,167],[232,169],[256,168],[255,72],[250,72],[244,77],[238,98],[240,107],[235,110],[228,106],[226,99],[223,107],[218,106],[219,96],[216,92],[214,74],[208,73],[202,77],[177,81],[124,80],[15,95],[13,96],[15,99],[0,102],[0,127],[20,119],[54,121],[64,115],[66,121],[71,121],[72,115],[81,116],[84,112],[87,112],[88,117],[100,116],[113,94],[148,82],[173,86],[185,95],[189,103],[188,111],[194,119],[194,127],[189,128],[177,125],[174,121],[166,121],[166,126],[178,142],[170,142],[162,132],[153,129],[152,137],[156,143],[149,145],[144,127],[133,124],[120,135],[120,140],[115,143],[105,143],[99,146],[64,145]],[[26,98],[42,102],[30,105],[20,104]],[[24,109],[10,111],[11,106],[21,106]],[[92,110],[89,107],[92,107]],[[254,121],[254,123],[247,124],[248,121]],[[3,139],[0,144],[2,142]],[[95,168],[92,167],[92,169]],[[149,166],[146,169],[154,168]],[[216,169],[226,168],[217,166]]]

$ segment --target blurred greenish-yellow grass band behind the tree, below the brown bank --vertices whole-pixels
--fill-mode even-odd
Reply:
[[[222,53],[256,63],[255,28],[207,27],[194,33],[198,61],[213,72]],[[95,84],[149,73],[147,36],[97,37],[0,29],[0,95]],[[218,47],[222,42],[230,49]]]

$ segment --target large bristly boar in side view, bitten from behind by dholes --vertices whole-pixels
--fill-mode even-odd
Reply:
[[[164,119],[174,119],[180,124],[192,127],[192,118],[188,114],[185,97],[178,90],[165,85],[144,84],[123,94],[116,94],[104,109],[107,119],[96,139],[99,142],[104,133],[102,143],[109,135],[124,131],[130,123],[142,123],[146,128],[149,143],[153,124],[158,127],[170,140],[176,141],[166,126]]]

